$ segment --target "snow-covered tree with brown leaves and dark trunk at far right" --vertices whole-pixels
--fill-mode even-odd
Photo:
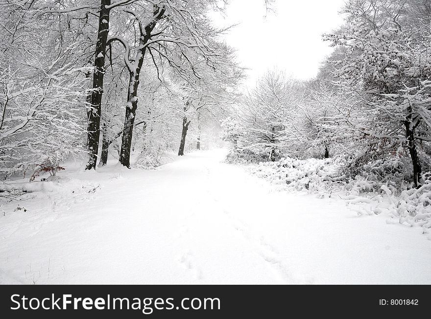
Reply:
[[[422,20],[411,18],[422,8]],[[350,1],[343,32],[328,35],[347,48],[336,62],[340,86],[355,94],[357,117],[346,120],[369,146],[389,154],[404,148],[412,162],[415,186],[430,154],[430,15],[421,1]],[[406,29],[404,28],[406,26]],[[348,112],[348,110],[346,110]],[[421,160],[421,155],[422,160]]]

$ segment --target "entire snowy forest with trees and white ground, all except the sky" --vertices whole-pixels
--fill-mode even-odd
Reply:
[[[229,2],[0,0],[0,283],[431,283],[431,1],[251,87]]]

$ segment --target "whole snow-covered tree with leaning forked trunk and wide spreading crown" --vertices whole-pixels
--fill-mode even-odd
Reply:
[[[131,16],[132,30],[127,27],[122,32],[107,40],[108,45],[120,43],[125,50],[124,62],[130,73],[126,114],[122,133],[120,162],[130,167],[133,123],[138,107],[138,87],[144,59],[150,59],[158,72],[163,72],[166,65],[187,82],[200,78],[192,60],[201,57],[207,65],[217,68],[215,57],[218,55],[214,46],[215,37],[220,32],[211,26],[208,10],[216,1],[128,1],[118,8]],[[124,25],[125,26],[125,25]],[[124,28],[123,26],[123,28]],[[136,34],[135,34],[136,33]],[[148,52],[148,57],[146,57]]]

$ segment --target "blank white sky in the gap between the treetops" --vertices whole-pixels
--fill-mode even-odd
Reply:
[[[237,49],[241,66],[250,69],[249,87],[274,68],[297,79],[313,78],[332,51],[322,34],[342,24],[338,12],[344,0],[276,0],[275,13],[268,14],[264,0],[230,1],[225,16],[216,14],[213,19],[218,27],[238,24],[225,40]]]

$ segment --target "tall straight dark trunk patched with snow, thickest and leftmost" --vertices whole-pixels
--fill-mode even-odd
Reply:
[[[105,72],[106,40],[109,32],[109,11],[107,5],[111,0],[100,1],[99,27],[96,43],[95,70],[93,73],[93,91],[91,94],[91,107],[87,111],[87,151],[89,160],[86,169],[96,169],[97,153],[100,137],[100,114],[103,93],[103,75]]]

